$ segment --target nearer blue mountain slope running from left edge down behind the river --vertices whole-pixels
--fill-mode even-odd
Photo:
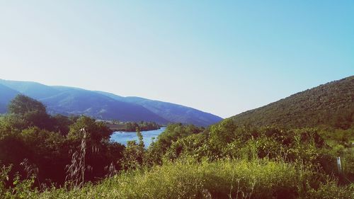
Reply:
[[[169,120],[161,118],[147,108],[132,103],[115,101],[113,98],[93,91],[67,86],[46,86],[31,81],[0,80],[0,85],[6,85],[6,87],[16,90],[17,93],[23,93],[41,101],[47,106],[47,110],[51,114],[89,115],[105,120],[115,119],[135,122],[145,120],[162,124],[169,123]],[[6,105],[6,102],[4,104]]]

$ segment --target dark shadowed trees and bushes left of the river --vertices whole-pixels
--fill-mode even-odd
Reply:
[[[87,134],[85,164],[91,171],[84,180],[95,181],[105,176],[107,165],[115,165],[123,155],[124,146],[110,143],[110,133],[103,123],[86,116],[50,116],[42,103],[19,95],[8,107],[8,114],[0,118],[0,161],[12,165],[11,176],[35,174],[36,186],[60,185]]]

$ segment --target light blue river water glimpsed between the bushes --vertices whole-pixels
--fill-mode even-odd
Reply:
[[[161,134],[161,132],[164,132],[165,129],[166,127],[161,127],[158,130],[142,131],[142,140],[144,141],[145,147],[149,147],[149,145],[152,143],[152,137],[155,137],[156,141],[157,137]],[[110,136],[110,140],[125,145],[127,145],[127,142],[130,140],[136,140],[136,142],[138,142],[136,132],[125,131],[113,132],[113,134]]]

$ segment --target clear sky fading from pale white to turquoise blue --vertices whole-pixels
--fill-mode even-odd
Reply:
[[[0,79],[228,118],[354,75],[354,1],[3,1]]]

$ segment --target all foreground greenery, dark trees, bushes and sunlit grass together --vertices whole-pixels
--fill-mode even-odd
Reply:
[[[109,142],[110,133],[92,118],[50,116],[17,96],[0,118],[0,195],[354,198],[353,123],[172,124],[147,149],[139,129],[139,141],[126,147]]]

